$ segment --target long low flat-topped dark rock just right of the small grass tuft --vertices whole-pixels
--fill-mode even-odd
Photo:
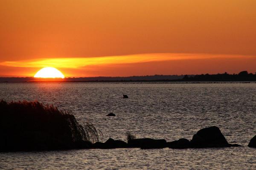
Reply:
[[[167,142],[165,139],[131,139],[128,141],[128,147],[140,147],[141,149],[164,148],[167,147]]]

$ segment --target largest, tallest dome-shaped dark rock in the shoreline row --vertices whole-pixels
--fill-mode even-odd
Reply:
[[[216,127],[206,127],[199,130],[190,141],[192,148],[203,147],[229,147],[229,144],[221,130]]]

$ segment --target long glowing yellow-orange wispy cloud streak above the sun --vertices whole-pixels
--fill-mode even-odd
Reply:
[[[0,65],[9,67],[26,68],[83,68],[90,65],[113,65],[131,64],[141,62],[172,61],[184,59],[209,59],[209,58],[240,58],[240,55],[222,54],[175,54],[175,53],[154,53],[154,54],[133,54],[124,56],[108,57],[70,57],[70,58],[42,58],[20,61],[0,62]]]

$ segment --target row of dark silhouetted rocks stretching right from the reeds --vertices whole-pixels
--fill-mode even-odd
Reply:
[[[253,143],[254,142],[254,143]],[[256,136],[250,142],[253,147],[256,142]],[[241,147],[240,144],[229,144],[221,130],[216,126],[206,127],[193,136],[192,140],[181,138],[176,141],[166,142],[165,139],[129,139],[128,143],[121,140],[114,140],[109,138],[105,143],[96,142],[93,148],[100,149],[114,149],[114,148],[141,148],[141,149],[158,149],[169,147],[171,149],[187,149],[187,148],[209,148],[209,147]],[[248,145],[249,146],[249,145]]]

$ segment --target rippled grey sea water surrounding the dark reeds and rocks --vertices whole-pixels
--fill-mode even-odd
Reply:
[[[127,94],[128,99],[122,99]],[[0,83],[0,99],[37,99],[72,111],[109,137],[173,141],[220,127],[230,143],[256,135],[256,83]],[[105,116],[108,113],[115,117]],[[112,149],[0,153],[3,169],[255,169],[249,147],[172,150]]]

